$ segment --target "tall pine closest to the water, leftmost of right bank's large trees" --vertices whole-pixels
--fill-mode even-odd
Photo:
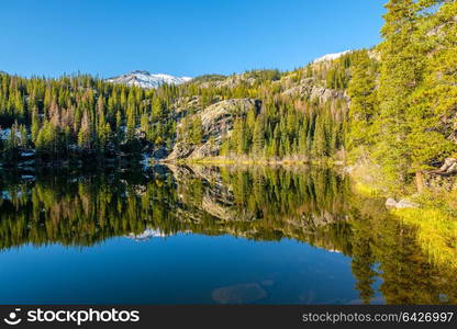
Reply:
[[[405,143],[409,99],[420,81],[422,60],[412,43],[415,30],[413,0],[391,0],[386,8],[380,45],[380,123],[377,158],[393,181],[405,182],[411,154]]]

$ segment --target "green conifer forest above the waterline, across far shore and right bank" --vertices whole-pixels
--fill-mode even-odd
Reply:
[[[166,155],[178,141],[213,138],[204,136],[194,115],[202,109],[255,99],[259,109],[233,113],[218,156],[369,158],[394,182],[413,177],[421,182],[424,170],[439,167],[457,149],[457,3],[391,0],[387,10],[380,45],[288,72],[208,75],[148,90],[86,75],[0,73],[3,164],[24,155],[36,163],[132,159],[158,149]],[[300,92],[306,86],[331,93]]]

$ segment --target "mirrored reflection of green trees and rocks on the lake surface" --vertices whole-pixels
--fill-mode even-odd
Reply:
[[[4,251],[27,243],[90,247],[113,237],[145,241],[177,234],[288,238],[350,257],[359,296],[350,303],[457,302],[456,273],[428,261],[415,230],[390,217],[382,201],[354,195],[349,180],[330,170],[170,166],[83,175],[1,173]],[[314,264],[317,269],[320,260]],[[296,270],[281,271],[293,275]],[[323,277],[338,280],[325,266],[322,271]],[[265,300],[272,282],[222,286],[211,296],[225,304],[277,303]],[[312,294],[301,292],[297,303],[315,303]]]

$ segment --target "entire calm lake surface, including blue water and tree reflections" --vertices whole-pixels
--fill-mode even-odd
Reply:
[[[306,168],[0,172],[1,304],[448,304],[456,273]]]

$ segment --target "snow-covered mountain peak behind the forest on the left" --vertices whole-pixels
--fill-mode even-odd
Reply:
[[[137,86],[141,88],[157,88],[160,84],[181,84],[192,80],[189,77],[174,77],[169,75],[152,75],[148,71],[136,70],[120,77],[109,78],[108,82]]]

